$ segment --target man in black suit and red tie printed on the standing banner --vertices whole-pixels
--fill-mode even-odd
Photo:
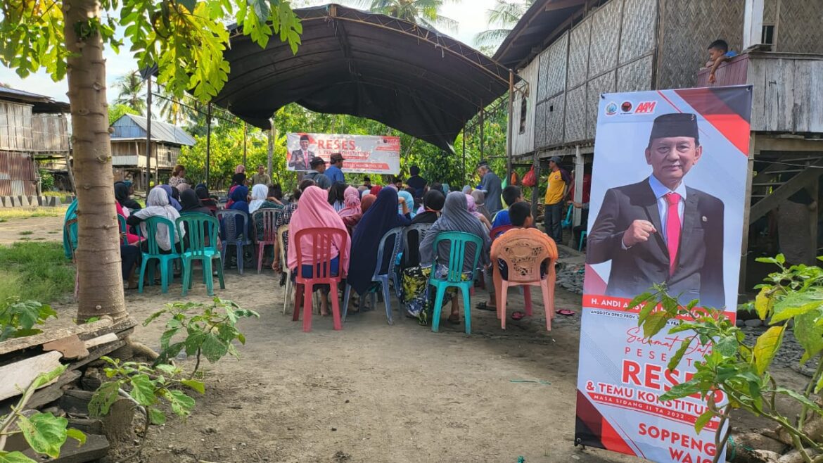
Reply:
[[[632,298],[666,283],[686,304],[725,306],[723,202],[683,183],[703,154],[692,114],[654,119],[652,175],[608,189],[588,235],[588,264],[611,260],[607,296]]]

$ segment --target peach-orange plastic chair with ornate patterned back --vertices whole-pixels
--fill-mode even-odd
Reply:
[[[557,246],[537,246],[532,232],[522,228],[514,229],[500,236],[491,246],[491,261],[506,263],[507,280],[503,279],[499,268],[495,268],[495,290],[497,297],[497,318],[500,328],[506,329],[506,296],[509,287],[523,286],[526,315],[532,316],[532,295],[529,286],[539,286],[543,292],[546,307],[546,330],[551,331],[551,319],[555,316],[555,262]],[[540,278],[540,267],[546,262],[546,277]]]

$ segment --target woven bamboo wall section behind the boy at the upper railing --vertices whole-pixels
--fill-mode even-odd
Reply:
[[[697,71],[709,58],[706,47],[718,38],[726,40],[732,49],[741,49],[746,2],[660,1],[662,9],[655,88],[695,87]]]

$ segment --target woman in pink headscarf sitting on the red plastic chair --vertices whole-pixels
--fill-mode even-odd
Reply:
[[[297,274],[298,267],[304,278],[312,276],[314,263],[317,262],[314,258],[314,250],[312,243],[308,239],[301,240],[298,243],[295,240],[295,235],[301,230],[309,228],[337,228],[343,232],[346,230],[346,225],[343,224],[343,219],[337,215],[334,208],[328,203],[328,192],[320,189],[317,186],[309,186],[300,195],[300,207],[295,210],[291,216],[289,223],[289,243],[287,255],[287,264],[292,269],[291,274]],[[341,238],[335,238],[332,241],[332,274],[335,272],[342,272],[343,275],[349,270],[349,251],[351,250],[351,241],[345,240],[346,244],[342,243]],[[300,253],[302,254],[302,261],[300,265],[297,262],[297,246],[300,246]],[[337,288],[333,297],[337,297]],[[320,297],[320,314],[328,315],[328,288],[321,291]]]

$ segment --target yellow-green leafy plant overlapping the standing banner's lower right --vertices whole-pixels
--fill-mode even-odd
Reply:
[[[783,344],[783,335],[789,330],[789,320],[793,320],[794,336],[805,350],[802,363],[823,351],[823,269],[808,265],[787,267],[783,255],[759,261],[776,264],[779,271],[756,287],[760,292],[751,306],[760,320],[768,320],[771,326],[754,344],[746,343],[743,331],[723,311],[697,308],[697,301],[683,306],[662,285],[635,297],[629,309],[639,308],[638,324],[646,339],[661,332],[670,320],[677,320],[677,324],[668,330],[669,334],[692,332],[668,363],[670,371],[677,368],[690,348],[705,348],[702,361],[694,362],[695,375],[660,396],[665,401],[699,394],[706,400],[707,410],[695,423],[698,432],[715,417],[719,419],[718,429],[722,429],[732,410],[742,409],[778,424],[779,433],[788,435],[804,462],[823,463],[823,439],[816,429],[819,427],[808,426],[813,417],[823,419],[821,401],[815,397],[823,390],[823,356],[817,358],[815,372],[803,391],[780,386],[769,372]],[[718,405],[715,399],[720,393],[728,398],[724,405]],[[801,412],[797,419],[778,409],[778,396],[798,405]],[[723,435],[718,432],[715,440],[717,448],[723,448],[728,431]],[[718,451],[715,462],[720,454]]]

